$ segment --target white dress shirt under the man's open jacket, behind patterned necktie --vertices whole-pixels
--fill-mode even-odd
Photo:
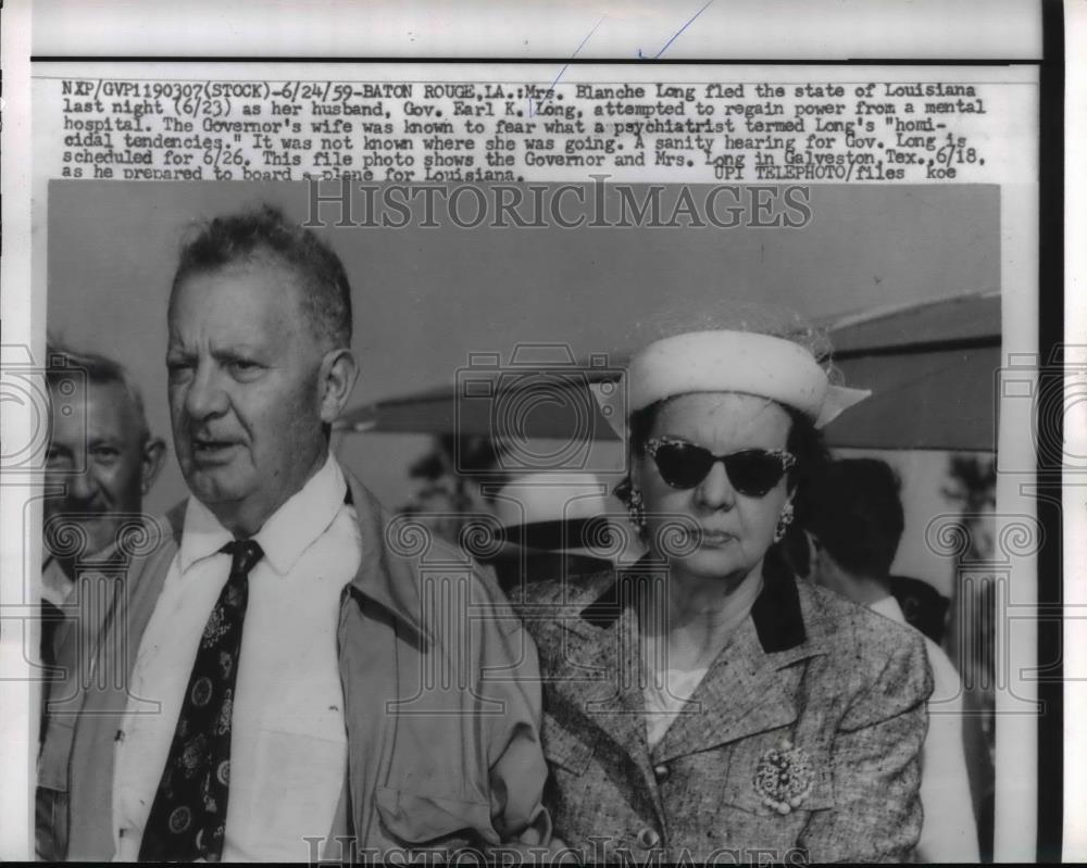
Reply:
[[[230,739],[223,859],[304,861],[305,836],[328,833],[343,785],[347,733],[336,629],[343,586],[362,558],[347,483],[324,466],[253,538]],[[139,856],[182,700],[208,617],[230,571],[233,539],[189,498],[180,548],[140,642],[115,743],[115,858]],[[135,697],[161,703],[137,713]]]

